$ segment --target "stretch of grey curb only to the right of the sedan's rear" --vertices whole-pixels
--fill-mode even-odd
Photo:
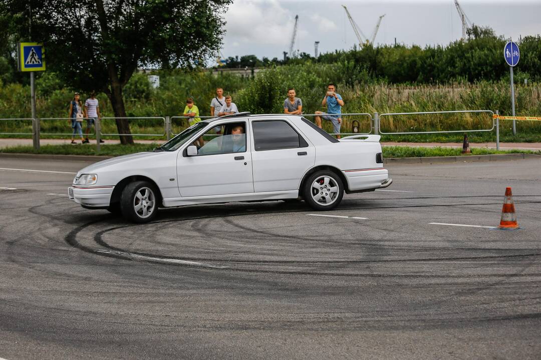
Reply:
[[[386,158],[384,164],[434,164],[434,163],[459,163],[459,162],[486,162],[486,161],[509,161],[523,159],[540,159],[536,154],[492,154],[492,155],[463,155],[451,157],[426,157],[426,158]]]

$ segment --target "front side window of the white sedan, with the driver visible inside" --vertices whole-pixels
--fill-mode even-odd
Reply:
[[[218,128],[211,128],[194,142],[198,155],[246,152],[246,123],[228,123]]]

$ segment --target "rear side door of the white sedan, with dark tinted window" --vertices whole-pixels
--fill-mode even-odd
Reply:
[[[252,120],[254,191],[299,188],[315,163],[315,148],[285,119]]]

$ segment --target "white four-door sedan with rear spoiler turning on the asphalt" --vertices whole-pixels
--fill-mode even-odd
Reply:
[[[217,129],[220,131],[216,131]],[[159,207],[302,198],[316,210],[387,187],[379,135],[337,140],[300,116],[238,113],[77,173],[70,199],[148,222]]]

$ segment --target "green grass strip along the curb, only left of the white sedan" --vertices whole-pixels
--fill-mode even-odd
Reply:
[[[133,154],[142,151],[151,151],[158,144],[134,144],[134,145],[102,145],[100,152],[96,152],[94,144],[65,144],[65,145],[43,145],[39,150],[32,146],[10,146],[0,148],[0,153],[24,153],[24,154],[52,154],[52,155],[101,155],[120,156]]]

